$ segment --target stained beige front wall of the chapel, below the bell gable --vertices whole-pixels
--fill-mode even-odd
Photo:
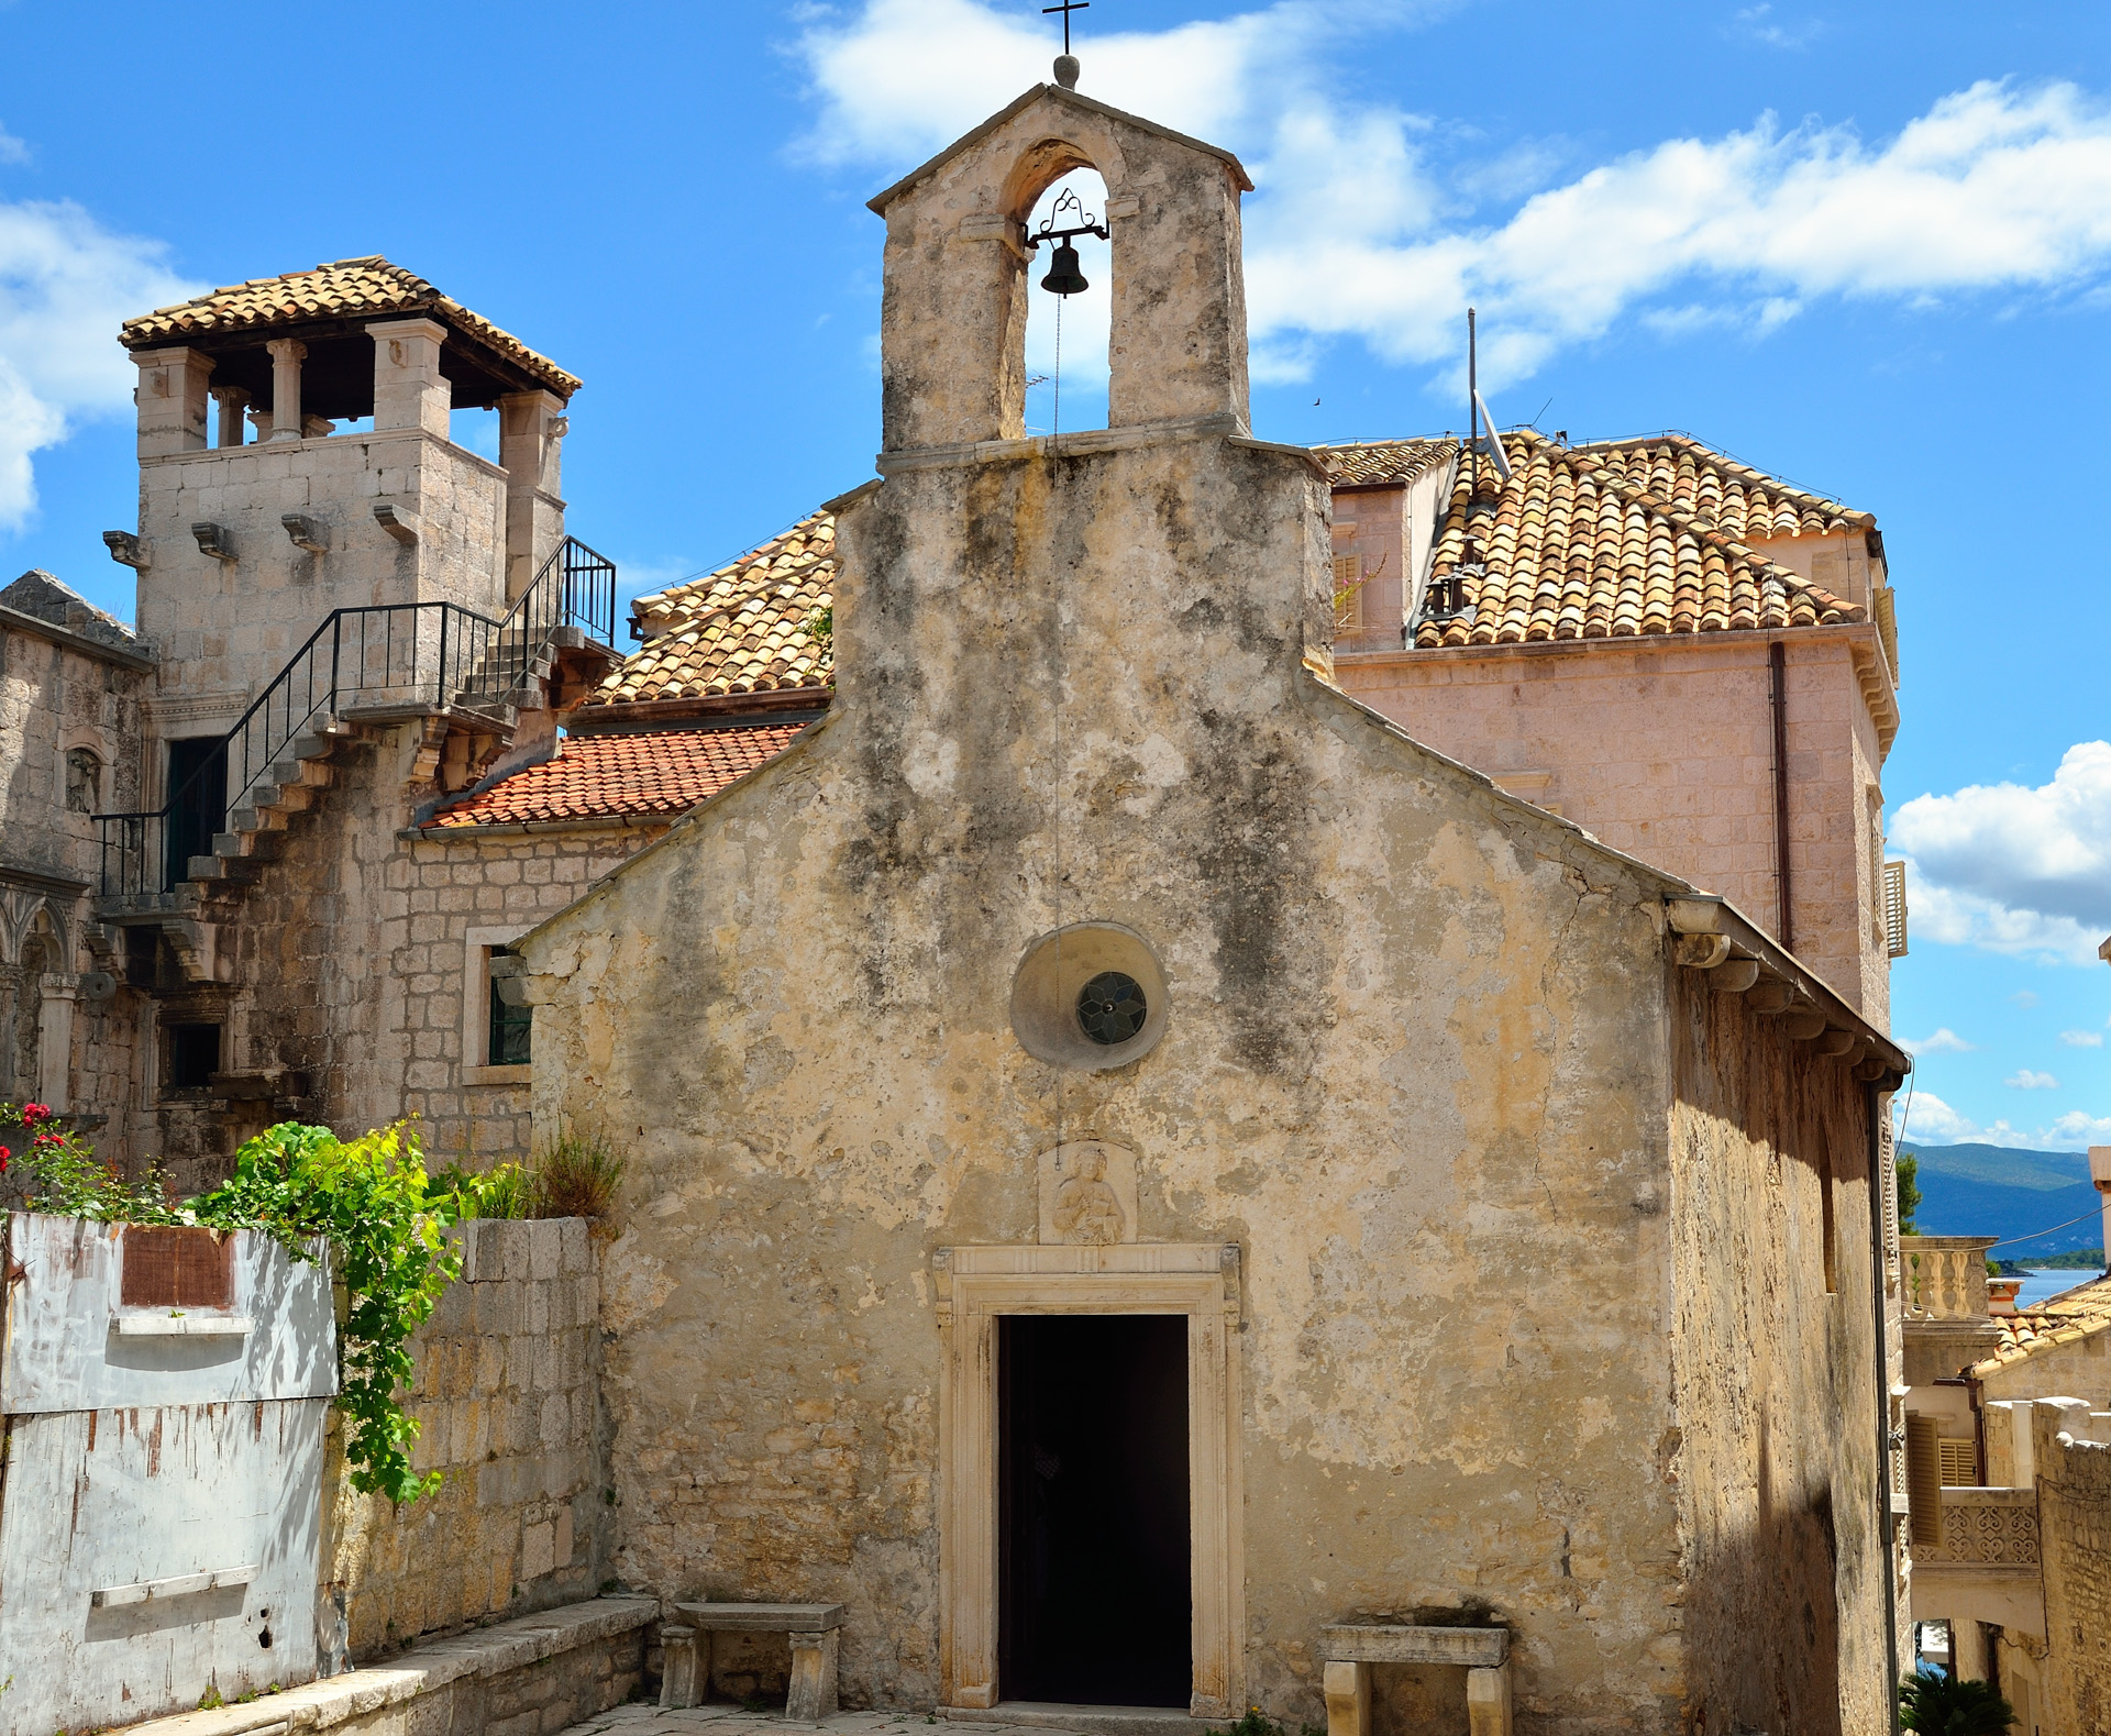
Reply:
[[[526,942],[538,1126],[631,1157],[623,1578],[840,1599],[853,1702],[933,1700],[931,1257],[1032,1242],[1093,1134],[1142,1240],[1243,1250],[1243,1696],[1317,1721],[1326,1622],[1480,1609],[1526,1728],[1678,1728],[1670,883],[1300,672],[1302,456],[918,467],[842,536],[830,720]],[[1174,984],[1115,1073],[1007,1018],[1079,919]]]

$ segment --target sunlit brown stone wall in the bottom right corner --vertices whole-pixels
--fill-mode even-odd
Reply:
[[[2050,1404],[2033,1407],[2033,1421],[2050,1645],[2043,1725],[2105,1736],[2111,1732],[2111,1447],[2062,1434]]]

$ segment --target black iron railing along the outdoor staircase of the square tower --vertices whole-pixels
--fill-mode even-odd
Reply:
[[[564,539],[505,621],[454,602],[336,608],[158,809],[97,813],[103,898],[169,891],[209,855],[228,811],[264,781],[310,727],[346,712],[418,714],[496,705],[528,684],[557,627],[608,646],[616,566]],[[213,788],[217,786],[217,788]]]

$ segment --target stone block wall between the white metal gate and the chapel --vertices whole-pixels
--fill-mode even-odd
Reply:
[[[405,1508],[353,1493],[342,1419],[331,1419],[325,1605],[357,1662],[464,1622],[593,1597],[610,1559],[587,1221],[477,1221],[454,1235],[462,1278],[412,1341],[412,1464],[445,1476],[439,1493]]]

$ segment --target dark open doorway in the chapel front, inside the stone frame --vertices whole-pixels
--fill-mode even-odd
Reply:
[[[1186,1706],[1186,1316],[999,1320],[999,1687]]]

